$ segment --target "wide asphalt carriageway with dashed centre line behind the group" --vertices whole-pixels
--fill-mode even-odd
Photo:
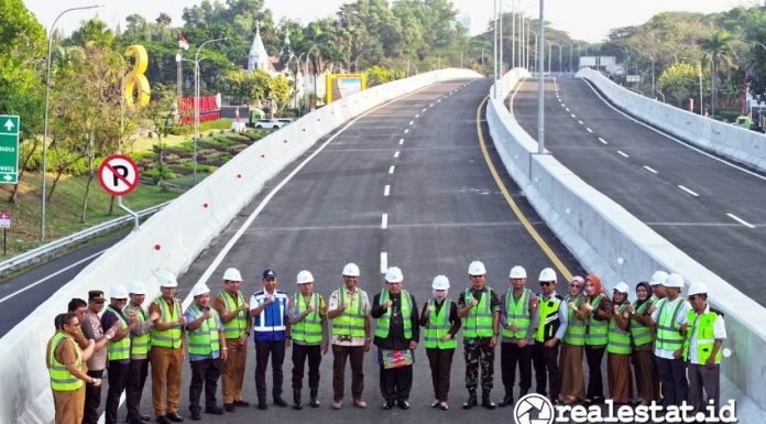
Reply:
[[[296,291],[297,272],[307,269],[316,279],[315,290],[327,298],[340,284],[343,264],[353,261],[362,271],[360,287],[372,300],[383,287],[383,260],[389,265],[402,268],[404,289],[414,294],[422,307],[431,295],[430,282],[437,274],[450,279],[450,297],[457,298],[460,290],[468,286],[467,267],[474,259],[484,261],[488,282],[499,292],[508,287],[507,273],[514,264],[527,268],[529,286],[538,291],[537,274],[551,265],[551,259],[512,211],[489,171],[479,143],[477,112],[489,86],[490,81],[484,79],[426,87],[371,111],[336,133],[335,139],[317,152],[324,144],[319,141],[306,157],[317,154],[305,165],[298,160],[288,166],[286,172],[303,166],[292,180],[281,186],[283,173],[270,183],[263,195],[245,207],[180,276],[180,292],[188,293],[200,278],[211,290],[221,290],[223,270],[237,267],[245,279],[245,293],[260,290],[263,269],[273,268],[280,278],[278,289],[292,294]],[[484,116],[483,110],[479,116]],[[483,133],[488,146],[491,145],[485,128]],[[489,156],[495,166],[501,164],[492,149],[489,149]],[[581,273],[570,253],[519,195],[518,187],[505,173],[501,172],[500,178],[510,198],[519,204],[530,227],[548,246],[545,250],[559,258],[572,273]],[[267,194],[276,187],[281,189],[270,197]],[[248,222],[253,213],[258,213],[256,217]],[[232,240],[234,242],[229,243]],[[212,276],[207,280],[210,273]],[[566,282],[559,276],[559,292],[565,287]],[[292,399],[289,358],[288,349],[283,367],[284,395],[288,401]],[[254,362],[251,347],[244,388],[244,398],[251,403],[255,401]],[[370,409],[351,406],[350,371],[347,371],[346,404],[342,411],[333,411],[330,407],[331,363],[332,355],[328,354],[320,368],[320,409],[293,411],[271,405],[263,412],[251,405],[222,416],[204,414],[204,422],[423,423],[439,420],[464,423],[477,418],[481,422],[504,420],[512,413],[510,409],[486,411],[480,407],[469,412],[460,409],[466,399],[462,347],[458,348],[452,367],[448,413],[429,407],[433,389],[423,347],[416,351],[409,411],[380,410],[374,348],[364,359],[364,396]],[[495,369],[493,398],[500,401],[499,349]],[[188,365],[184,365],[183,372],[179,412],[188,416]],[[267,390],[271,394],[270,373]],[[142,411],[153,416],[150,387],[147,381]],[[269,400],[271,402],[271,396]]]

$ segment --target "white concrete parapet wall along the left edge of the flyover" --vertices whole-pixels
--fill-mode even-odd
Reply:
[[[45,346],[54,333],[54,317],[66,312],[72,297],[86,297],[89,290],[103,290],[108,296],[112,283],[134,280],[158,293],[157,271],[185,272],[270,178],[319,139],[402,95],[439,81],[479,77],[468,69],[441,69],[376,86],[320,108],[242,151],[106,251],[2,337],[0,424],[53,422]],[[153,296],[146,298],[151,302]]]

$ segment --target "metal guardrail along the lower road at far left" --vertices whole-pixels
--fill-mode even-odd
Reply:
[[[171,202],[172,200],[168,200],[168,202],[165,202],[163,204],[140,210],[140,211],[138,211],[139,217],[143,218],[143,217],[153,215],[153,214],[160,211],[165,206],[167,206],[167,204],[169,204]],[[51,253],[58,251],[61,249],[64,249],[68,246],[72,246],[73,243],[78,242],[78,241],[87,240],[91,237],[95,237],[95,236],[98,236],[100,233],[110,231],[114,228],[118,228],[124,224],[130,224],[133,219],[134,218],[131,215],[125,215],[125,216],[122,216],[119,218],[114,218],[112,220],[108,220],[106,222],[98,224],[98,225],[92,226],[90,228],[86,228],[83,231],[62,237],[61,239],[54,240],[47,244],[43,244],[39,248],[32,249],[28,252],[17,254],[15,257],[13,257],[11,259],[8,259],[6,261],[0,262],[0,273],[4,273],[6,271],[14,269],[17,267],[34,262],[35,260],[39,260],[42,257],[51,254]]]

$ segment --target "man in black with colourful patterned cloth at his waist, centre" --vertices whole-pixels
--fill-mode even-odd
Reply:
[[[380,365],[383,409],[394,405],[409,409],[413,387],[414,351],[420,339],[415,297],[402,289],[404,275],[398,267],[385,272],[385,289],[372,301],[370,315],[375,318],[375,346]]]

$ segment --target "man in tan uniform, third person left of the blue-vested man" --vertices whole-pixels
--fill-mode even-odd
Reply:
[[[149,306],[154,320],[150,331],[152,348],[149,361],[152,365],[152,406],[157,423],[180,423],[180,370],[184,365],[184,325],[186,318],[176,298],[178,281],[174,274],[163,271],[157,276],[161,295]]]

